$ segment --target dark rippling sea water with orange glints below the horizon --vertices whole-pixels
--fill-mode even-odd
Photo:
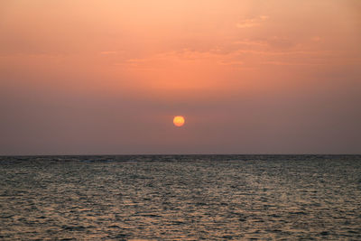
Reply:
[[[361,155],[0,157],[1,240],[361,240]]]

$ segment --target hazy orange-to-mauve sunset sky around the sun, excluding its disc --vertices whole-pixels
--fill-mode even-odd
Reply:
[[[360,42],[358,0],[3,0],[0,155],[361,153]]]

